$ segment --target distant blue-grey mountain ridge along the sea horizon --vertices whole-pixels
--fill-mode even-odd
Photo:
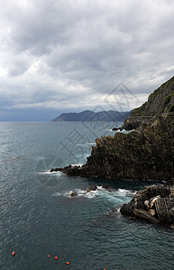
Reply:
[[[61,113],[59,117],[51,121],[124,121],[129,117],[131,112],[116,112],[116,111],[84,111],[84,112],[68,112]]]

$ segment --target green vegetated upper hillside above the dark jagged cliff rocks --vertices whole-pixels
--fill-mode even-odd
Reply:
[[[124,121],[125,130],[135,130],[145,122],[153,121],[153,117],[165,112],[173,112],[174,107],[174,76],[150,94],[148,101],[131,112]]]

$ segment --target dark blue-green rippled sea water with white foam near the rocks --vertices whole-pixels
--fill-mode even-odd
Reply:
[[[143,183],[49,173],[85,163],[114,126],[0,122],[0,269],[174,269],[174,230],[120,214]],[[99,190],[84,194],[90,184]]]

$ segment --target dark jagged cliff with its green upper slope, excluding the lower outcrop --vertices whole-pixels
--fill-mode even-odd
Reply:
[[[68,175],[113,179],[171,179],[174,175],[173,83],[174,77],[151,94],[146,105],[133,112],[132,117],[137,117],[134,113],[144,112],[141,117],[148,119],[138,129],[129,134],[117,132],[114,137],[96,139],[96,147],[92,148],[86,165],[60,170]],[[150,114],[153,115],[150,117]]]

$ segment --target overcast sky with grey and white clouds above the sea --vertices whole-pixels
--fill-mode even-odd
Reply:
[[[172,0],[0,0],[0,121],[130,111],[174,76]]]

